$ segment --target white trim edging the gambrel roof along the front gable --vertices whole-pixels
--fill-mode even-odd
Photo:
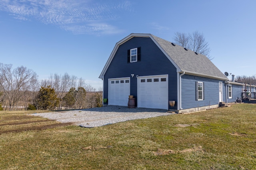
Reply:
[[[171,57],[164,51],[164,49],[162,49],[162,47],[157,43],[157,41],[152,37],[151,34],[149,34],[149,33],[131,33],[130,35],[128,35],[127,37],[123,38],[122,40],[120,40],[116,43],[112,53],[110,54],[110,57],[108,58],[107,63],[105,64],[102,72],[100,73],[99,78],[104,78],[104,74],[105,74],[106,70],[108,69],[108,66],[110,65],[118,47],[120,45],[122,45],[123,43],[125,43],[126,41],[128,41],[129,39],[132,39],[133,37],[150,37],[152,39],[152,41],[154,41],[154,43],[158,46],[158,48],[164,53],[164,55],[166,55],[166,57],[168,57],[168,59],[171,61],[171,63],[174,64],[174,66],[177,69],[177,72],[180,71],[180,68],[178,67],[178,65],[171,59]]]

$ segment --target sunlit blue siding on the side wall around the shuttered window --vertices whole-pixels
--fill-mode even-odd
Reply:
[[[182,109],[209,106],[219,104],[219,82],[220,80],[203,78],[198,76],[182,76]],[[196,101],[196,82],[204,83],[204,100]],[[224,82],[222,82],[224,86]],[[223,91],[224,92],[224,91]]]

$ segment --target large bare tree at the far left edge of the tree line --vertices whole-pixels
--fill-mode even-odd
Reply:
[[[30,83],[37,79],[36,73],[24,66],[14,68],[12,64],[0,63],[0,86],[9,102],[9,110],[18,105],[22,95],[29,90]]]

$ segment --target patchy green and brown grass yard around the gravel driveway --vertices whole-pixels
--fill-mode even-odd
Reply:
[[[28,113],[0,111],[0,169],[256,170],[254,104],[94,128]]]

